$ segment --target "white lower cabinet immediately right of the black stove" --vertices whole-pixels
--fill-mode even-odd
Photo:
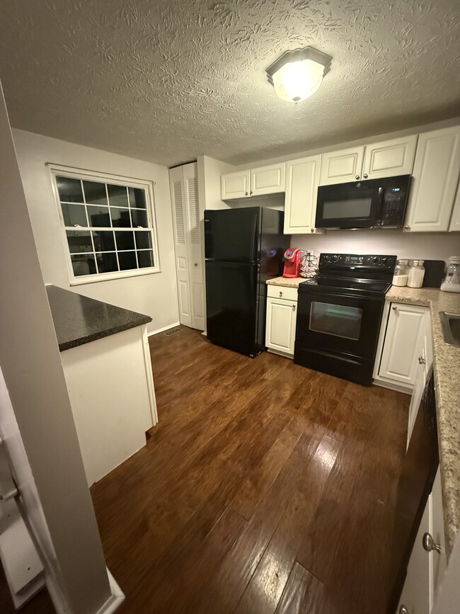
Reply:
[[[375,383],[410,392],[415,384],[420,348],[430,336],[430,309],[421,305],[387,303],[377,350]]]

